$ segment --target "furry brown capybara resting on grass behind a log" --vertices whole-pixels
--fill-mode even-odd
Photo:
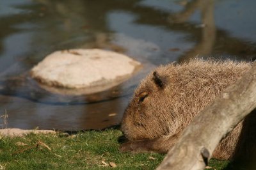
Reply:
[[[121,130],[128,141],[120,150],[167,153],[193,118],[251,67],[249,62],[214,59],[157,67],[140,82],[125,109]],[[243,121],[222,139],[212,157],[233,158],[242,127]]]

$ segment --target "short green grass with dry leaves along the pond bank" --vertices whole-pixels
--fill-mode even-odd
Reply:
[[[0,137],[0,169],[155,169],[164,158],[157,153],[120,153],[120,130],[78,132],[75,135],[29,134]],[[108,166],[104,166],[102,161]],[[225,169],[227,161],[209,166]]]

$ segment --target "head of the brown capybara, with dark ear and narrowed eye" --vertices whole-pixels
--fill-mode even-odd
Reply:
[[[166,114],[172,107],[168,105],[171,100],[171,91],[168,90],[170,79],[172,75],[161,67],[140,83],[122,121],[122,130],[129,140],[154,139],[159,134],[164,135],[169,131],[164,121],[171,118],[171,114]]]

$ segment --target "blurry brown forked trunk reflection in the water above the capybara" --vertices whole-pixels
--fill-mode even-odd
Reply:
[[[181,12],[175,13],[170,16],[170,22],[184,23],[188,21],[189,17],[200,10],[201,23],[197,27],[202,30],[200,35],[201,40],[196,43],[193,49],[190,49],[182,56],[179,61],[196,58],[197,56],[209,56],[212,53],[212,48],[216,40],[216,27],[214,22],[214,0],[195,0],[191,1]]]

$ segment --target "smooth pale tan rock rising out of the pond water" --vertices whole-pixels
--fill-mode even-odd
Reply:
[[[67,88],[70,91],[83,89],[84,94],[88,94],[124,82],[140,66],[138,61],[108,50],[70,49],[46,56],[32,68],[31,77],[42,82],[43,88],[53,93],[61,92],[51,87]]]

